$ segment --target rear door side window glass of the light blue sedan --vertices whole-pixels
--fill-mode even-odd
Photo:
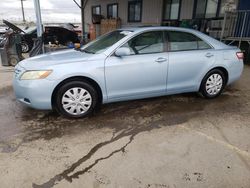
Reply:
[[[169,31],[167,33],[169,51],[203,50],[211,48],[209,44],[191,33],[180,31]]]

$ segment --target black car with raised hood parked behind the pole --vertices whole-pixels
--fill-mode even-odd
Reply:
[[[37,39],[37,30],[36,27],[30,27],[28,29],[22,30],[16,25],[4,20],[3,21],[10,29],[15,32],[22,34],[22,52],[29,52],[32,47],[34,40]],[[45,26],[43,33],[44,44],[61,44],[67,46],[69,43],[79,43],[79,37],[76,32],[66,29],[59,26]]]

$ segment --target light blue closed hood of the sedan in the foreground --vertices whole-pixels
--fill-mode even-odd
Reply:
[[[87,54],[74,49],[50,52],[21,61],[18,65],[26,70],[37,70],[58,64],[83,62],[91,59],[95,54]]]

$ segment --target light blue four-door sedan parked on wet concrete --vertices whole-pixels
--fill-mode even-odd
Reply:
[[[141,27],[23,60],[13,85],[30,107],[79,118],[102,103],[186,92],[215,98],[242,70],[236,47],[191,29]]]

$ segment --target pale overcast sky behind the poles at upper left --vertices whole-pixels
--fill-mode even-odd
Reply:
[[[80,0],[76,0],[78,3]],[[24,0],[27,21],[35,21],[33,0]],[[42,21],[45,23],[80,23],[80,8],[73,0],[40,0]],[[21,0],[0,0],[0,20],[22,21]]]

